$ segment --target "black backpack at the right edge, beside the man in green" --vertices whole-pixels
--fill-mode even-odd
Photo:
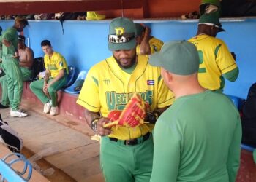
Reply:
[[[256,83],[249,88],[242,106],[242,143],[256,147]]]

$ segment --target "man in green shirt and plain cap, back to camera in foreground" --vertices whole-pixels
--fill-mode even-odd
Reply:
[[[154,129],[151,182],[236,181],[240,116],[229,98],[200,86],[195,45],[167,42],[149,63],[162,67],[165,84],[176,97]]]

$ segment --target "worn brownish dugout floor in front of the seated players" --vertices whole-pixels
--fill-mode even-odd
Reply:
[[[75,181],[104,181],[99,168],[99,143],[91,140],[91,131],[87,126],[64,116],[42,114],[42,106],[38,103],[29,103],[29,100],[22,102],[21,108],[29,114],[25,118],[11,117],[10,108],[1,109],[0,112],[3,120],[23,138],[24,150],[39,154]],[[64,181],[61,176],[51,179]]]

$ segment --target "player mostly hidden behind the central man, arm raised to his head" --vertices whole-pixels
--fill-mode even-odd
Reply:
[[[149,27],[140,23],[135,23],[135,25],[138,34],[138,45],[136,47],[138,55],[151,55],[161,50],[164,42],[151,36],[151,29]]]

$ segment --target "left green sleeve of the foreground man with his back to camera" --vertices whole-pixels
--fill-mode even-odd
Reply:
[[[170,121],[168,121],[170,122]],[[154,128],[154,159],[151,182],[177,181],[181,141],[176,126],[158,120]]]

